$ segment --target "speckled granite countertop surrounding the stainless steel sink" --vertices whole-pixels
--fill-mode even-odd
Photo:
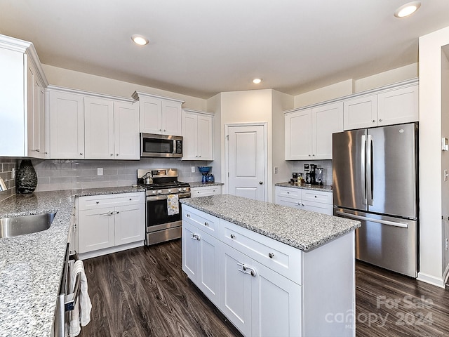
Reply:
[[[35,192],[0,201],[0,218],[58,212],[48,230],[0,239],[1,336],[51,336],[75,197],[143,191],[107,187]]]

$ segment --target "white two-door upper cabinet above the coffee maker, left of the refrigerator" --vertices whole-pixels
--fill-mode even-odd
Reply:
[[[332,133],[343,131],[343,103],[286,113],[286,160],[332,159]]]

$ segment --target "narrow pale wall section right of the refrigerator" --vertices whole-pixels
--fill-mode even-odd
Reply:
[[[442,167],[442,53],[449,44],[449,27],[420,37],[420,273],[418,279],[444,286],[442,172],[428,183],[427,168]],[[426,169],[424,169],[424,167]],[[439,178],[438,178],[439,176]],[[446,201],[447,202],[447,201]],[[446,215],[448,216],[448,215]]]

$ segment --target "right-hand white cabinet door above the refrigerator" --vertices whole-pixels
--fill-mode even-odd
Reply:
[[[379,126],[408,123],[419,119],[418,86],[409,86],[380,93]]]

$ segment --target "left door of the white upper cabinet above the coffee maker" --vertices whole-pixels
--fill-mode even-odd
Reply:
[[[311,110],[286,114],[286,160],[311,159]]]

